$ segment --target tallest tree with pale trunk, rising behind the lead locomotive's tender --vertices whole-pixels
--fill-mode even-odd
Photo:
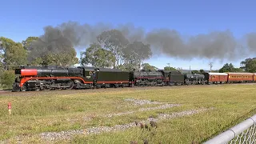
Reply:
[[[98,42],[104,44],[106,50],[110,50],[114,54],[114,68],[122,64],[122,50],[129,44],[128,39],[119,30],[107,30],[99,34]]]

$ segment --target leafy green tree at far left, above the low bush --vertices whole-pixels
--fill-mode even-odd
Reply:
[[[27,53],[22,43],[0,37],[0,63],[4,70],[14,70],[27,64]]]

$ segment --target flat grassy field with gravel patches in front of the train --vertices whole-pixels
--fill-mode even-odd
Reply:
[[[0,93],[0,143],[201,143],[256,114],[255,93],[255,85]],[[157,127],[135,126],[149,118]]]

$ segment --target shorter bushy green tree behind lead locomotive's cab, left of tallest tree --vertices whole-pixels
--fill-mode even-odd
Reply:
[[[81,53],[80,63],[82,66],[91,64],[98,67],[114,66],[114,54],[105,50],[97,43],[91,44],[85,52]]]

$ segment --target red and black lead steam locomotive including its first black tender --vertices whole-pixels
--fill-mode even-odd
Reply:
[[[21,66],[13,91],[130,86],[129,73],[96,67]]]

